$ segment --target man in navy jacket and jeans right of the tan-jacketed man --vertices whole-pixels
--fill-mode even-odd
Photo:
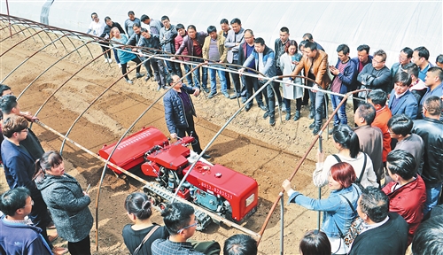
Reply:
[[[351,89],[352,84],[357,76],[357,66],[349,58],[349,47],[346,44],[340,44],[337,48],[338,60],[335,66],[330,66],[330,73],[335,77],[331,82],[330,91],[339,94],[346,94]],[[330,95],[332,103],[332,111],[337,109],[343,97]],[[334,127],[339,124],[347,125],[346,102],[338,108],[338,112],[334,115]],[[332,135],[333,128],[330,129]]]

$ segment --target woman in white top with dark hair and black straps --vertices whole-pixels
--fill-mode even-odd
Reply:
[[[323,187],[328,184],[330,166],[338,162],[347,162],[354,167],[358,183],[366,188],[368,186],[378,187],[377,175],[372,166],[372,160],[368,154],[360,151],[360,142],[354,130],[347,125],[334,127],[332,137],[334,138],[337,154],[330,155],[324,159],[324,153],[318,152],[315,171],[313,173],[314,185]],[[382,160],[380,158],[380,160]]]

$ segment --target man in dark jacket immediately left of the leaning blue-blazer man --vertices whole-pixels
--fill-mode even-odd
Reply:
[[[243,66],[243,64],[245,64],[245,61],[247,58],[249,58],[249,56],[253,53],[254,48],[254,43],[253,41],[255,40],[254,36],[253,36],[253,30],[251,29],[246,29],[245,30],[245,42],[242,42],[240,44],[239,50],[238,50],[238,65]],[[253,70],[257,70],[257,67],[255,66],[255,62],[251,61],[249,63],[249,67]],[[247,69],[246,73],[254,73],[252,70]],[[243,79],[243,84],[245,84],[246,87],[246,97],[252,97],[253,96],[253,91],[257,92],[257,90],[260,89],[260,83],[259,80],[255,77],[249,76],[249,75],[242,75],[241,79]],[[268,93],[266,90],[261,90],[259,94],[257,94],[257,96],[255,97],[255,100],[257,101],[257,104],[259,105],[260,109],[263,111],[268,111],[268,107],[265,106],[265,104],[263,103],[263,98],[262,95],[265,96],[265,102],[268,101]],[[249,104],[246,104],[245,106],[245,111],[249,111],[251,109],[251,107],[253,106],[253,100],[251,100],[251,102],[249,102]]]

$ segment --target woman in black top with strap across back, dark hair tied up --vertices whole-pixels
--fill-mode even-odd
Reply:
[[[133,224],[123,228],[123,240],[131,254],[151,255],[151,244],[157,239],[167,239],[167,228],[152,223],[152,205],[149,198],[141,192],[129,194],[125,209]]]

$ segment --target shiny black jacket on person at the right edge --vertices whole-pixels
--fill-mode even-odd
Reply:
[[[426,117],[424,120],[414,120],[412,133],[420,135],[424,142],[424,183],[443,183],[443,122]]]

